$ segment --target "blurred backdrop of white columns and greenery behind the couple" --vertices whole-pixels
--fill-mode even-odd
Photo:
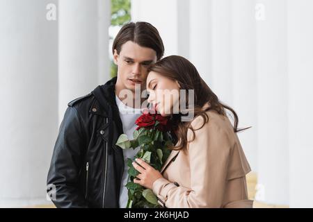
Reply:
[[[312,0],[0,0],[0,207],[52,207],[67,103],[116,75],[122,24],[153,24],[239,114],[254,207],[313,207]]]

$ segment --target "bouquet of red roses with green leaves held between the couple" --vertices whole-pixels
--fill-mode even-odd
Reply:
[[[138,127],[134,131],[134,139],[128,139],[127,135],[122,134],[116,145],[123,149],[140,146],[140,150],[134,159],[141,158],[151,167],[160,171],[163,162],[170,155],[168,146],[172,146],[168,133],[170,121],[168,118],[162,117],[161,114],[157,114],[155,110],[145,110],[141,117],[136,120],[136,125]],[[134,178],[139,172],[131,164],[133,161],[130,158],[127,160],[127,166],[129,167],[129,182],[126,185],[129,197],[127,208],[160,207],[157,196],[154,195],[151,189],[145,189],[145,187],[134,183]]]

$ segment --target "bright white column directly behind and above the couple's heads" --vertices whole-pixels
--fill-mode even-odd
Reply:
[[[164,56],[189,57],[189,0],[131,0],[131,21],[156,27],[165,47]]]

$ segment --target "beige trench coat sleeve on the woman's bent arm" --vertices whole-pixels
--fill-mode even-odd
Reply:
[[[202,117],[197,117],[192,126],[198,129],[202,123]],[[191,135],[189,130],[188,138]],[[177,187],[165,178],[159,178],[153,184],[159,203],[166,207],[222,207],[232,147],[230,141],[223,124],[214,119],[195,130],[195,140],[188,143],[191,187]]]

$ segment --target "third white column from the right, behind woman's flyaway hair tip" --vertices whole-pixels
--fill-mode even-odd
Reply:
[[[232,107],[239,115],[239,133],[252,171],[257,171],[257,70],[255,1],[232,1]]]

